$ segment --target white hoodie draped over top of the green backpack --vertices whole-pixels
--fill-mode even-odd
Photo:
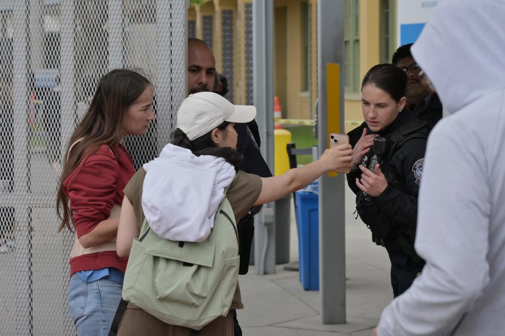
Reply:
[[[235,177],[233,165],[168,144],[143,168],[142,210],[151,230],[173,241],[207,239],[224,190]]]

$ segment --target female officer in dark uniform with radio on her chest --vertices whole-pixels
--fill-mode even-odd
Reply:
[[[414,237],[428,128],[405,108],[406,91],[407,75],[400,68],[372,67],[361,87],[365,122],[349,132],[353,155],[347,182],[372,240],[389,254],[394,297],[410,287],[424,265]]]

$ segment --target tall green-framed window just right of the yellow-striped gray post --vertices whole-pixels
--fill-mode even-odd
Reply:
[[[345,0],[344,13],[345,91],[360,90],[360,1]]]

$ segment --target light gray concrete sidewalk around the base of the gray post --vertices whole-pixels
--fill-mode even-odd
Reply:
[[[283,270],[256,275],[254,266],[240,275],[245,309],[237,311],[244,336],[371,336],[382,309],[393,294],[386,250],[371,241],[370,231],[354,219],[354,194],[346,189],[347,323],[324,325],[319,316],[319,292],[304,291],[298,272]],[[293,210],[293,209],[292,209]],[[298,260],[294,212],[291,215],[290,261]]]

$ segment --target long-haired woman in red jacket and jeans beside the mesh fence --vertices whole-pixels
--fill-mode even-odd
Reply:
[[[116,253],[123,189],[135,173],[119,143],[145,134],[153,89],[140,74],[113,70],[100,79],[89,109],[69,141],[57,212],[59,230],[75,228],[68,306],[77,333],[107,335],[121,300],[127,258]],[[70,204],[69,204],[70,203]]]

